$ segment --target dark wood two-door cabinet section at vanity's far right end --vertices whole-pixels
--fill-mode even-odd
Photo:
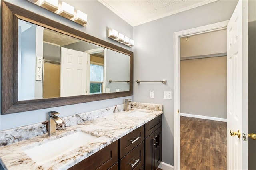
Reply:
[[[157,123],[160,122],[160,123]],[[148,125],[147,125],[148,124]],[[159,126],[160,125],[160,126]],[[147,128],[146,128],[147,127]],[[156,128],[157,127],[157,128]],[[145,170],[156,170],[162,161],[162,116],[153,119],[145,125],[146,130],[154,131],[145,138]]]

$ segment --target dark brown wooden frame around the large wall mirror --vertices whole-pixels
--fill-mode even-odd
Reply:
[[[133,52],[44,16],[1,2],[1,115],[132,95]],[[18,19],[130,56],[130,91],[18,101]]]

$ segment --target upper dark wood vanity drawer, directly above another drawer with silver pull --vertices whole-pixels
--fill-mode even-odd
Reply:
[[[120,139],[120,158],[128,154],[128,152],[134,149],[143,140],[144,126],[141,126],[122,137]]]

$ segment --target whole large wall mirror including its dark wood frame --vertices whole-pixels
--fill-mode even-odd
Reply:
[[[1,3],[1,114],[132,95],[132,51]]]

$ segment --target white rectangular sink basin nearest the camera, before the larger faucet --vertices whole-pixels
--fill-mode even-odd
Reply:
[[[84,132],[74,132],[68,136],[51,140],[39,146],[24,149],[23,151],[37,164],[42,165],[75,148],[93,142],[95,139],[97,139],[96,136]]]

